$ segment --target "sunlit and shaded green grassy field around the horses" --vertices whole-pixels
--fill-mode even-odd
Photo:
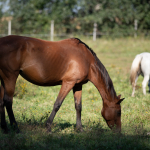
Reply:
[[[129,83],[131,63],[136,54],[150,51],[150,41],[144,38],[90,39],[81,38],[91,47],[106,67],[116,93],[125,97],[122,107],[122,134],[113,134],[101,116],[102,99],[97,89],[83,86],[83,133],[75,132],[76,111],[70,92],[58,111],[47,134],[45,122],[52,111],[60,86],[39,87],[19,77],[13,102],[14,114],[21,130],[7,135],[0,130],[0,150],[148,150],[150,149],[150,94],[144,96],[138,80],[135,97]],[[148,87],[147,87],[148,91]],[[8,117],[7,117],[7,122]],[[11,128],[9,126],[9,128]]]

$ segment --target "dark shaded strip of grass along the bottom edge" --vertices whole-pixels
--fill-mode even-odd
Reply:
[[[11,131],[5,135],[0,132],[0,149],[15,150],[149,150],[150,135],[141,128],[132,134],[114,134],[109,129],[104,129],[100,124],[85,125],[84,132],[77,133],[71,128],[74,124],[55,123],[54,132],[47,134],[45,127],[33,124],[21,124],[22,133],[16,134]],[[70,129],[66,131],[66,129]]]

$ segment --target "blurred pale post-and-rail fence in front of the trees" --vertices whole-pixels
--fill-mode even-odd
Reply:
[[[4,18],[3,23],[0,23],[0,37],[4,37],[7,35],[11,35],[11,19],[12,18]],[[7,28],[6,28],[7,26]],[[4,28],[5,27],[5,28]],[[1,34],[2,33],[2,34]],[[36,37],[40,39],[46,39],[46,40],[51,40],[53,41],[55,38],[70,38],[70,37],[79,37],[79,36],[86,36],[89,38],[92,38],[93,41],[96,41],[97,38],[100,37],[121,37],[124,33],[118,32],[118,33],[102,33],[97,30],[97,24],[94,23],[93,25],[93,32],[92,33],[80,33],[80,34],[55,34],[54,33],[54,21],[51,21],[50,25],[50,32],[49,34],[19,34],[21,36],[28,36],[28,37]],[[135,20],[135,25],[134,25],[134,30],[131,33],[128,33],[127,36],[150,36],[150,31],[145,31],[143,33],[138,33],[138,28],[137,28],[137,20]]]

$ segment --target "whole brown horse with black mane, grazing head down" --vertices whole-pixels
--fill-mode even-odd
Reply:
[[[121,106],[123,99],[116,96],[113,83],[96,54],[77,38],[58,42],[11,35],[0,38],[0,113],[1,128],[8,132],[5,107],[10,124],[16,127],[12,102],[18,75],[40,86],[62,85],[53,111],[47,120],[51,132],[53,119],[63,100],[73,89],[76,109],[76,128],[82,131],[82,85],[91,81],[103,99],[102,116],[111,129],[121,131]]]

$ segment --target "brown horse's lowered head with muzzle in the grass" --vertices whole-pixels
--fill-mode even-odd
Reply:
[[[120,99],[119,95],[115,101],[106,101],[103,103],[102,116],[104,117],[107,125],[115,132],[121,131],[121,106],[120,103],[124,100]]]

